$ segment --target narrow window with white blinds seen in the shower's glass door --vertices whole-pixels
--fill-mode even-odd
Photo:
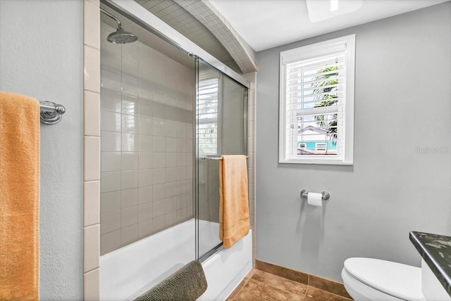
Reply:
[[[218,79],[199,81],[199,102],[197,107],[199,122],[199,154],[218,153]]]

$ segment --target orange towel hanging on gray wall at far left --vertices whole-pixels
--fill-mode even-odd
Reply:
[[[0,91],[0,300],[39,300],[39,102]]]

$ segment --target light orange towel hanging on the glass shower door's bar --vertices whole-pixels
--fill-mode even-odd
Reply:
[[[245,155],[223,155],[219,161],[219,239],[224,248],[249,233],[249,197]]]

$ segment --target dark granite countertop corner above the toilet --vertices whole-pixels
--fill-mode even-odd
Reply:
[[[451,296],[451,236],[412,231],[409,238]]]

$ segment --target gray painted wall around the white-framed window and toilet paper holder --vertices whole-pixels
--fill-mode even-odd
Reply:
[[[278,164],[280,51],[347,34],[354,166]],[[450,53],[450,2],[257,53],[257,260],[341,281],[347,257],[419,266],[409,231],[451,234],[451,155],[416,151],[451,146]]]

